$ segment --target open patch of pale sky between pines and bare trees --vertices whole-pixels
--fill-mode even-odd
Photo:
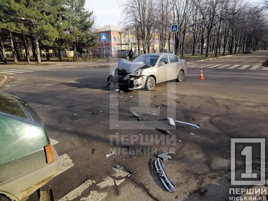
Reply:
[[[119,24],[120,7],[119,0],[85,0],[85,9],[93,11],[95,27],[107,24]]]

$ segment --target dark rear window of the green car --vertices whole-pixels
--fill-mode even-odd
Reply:
[[[0,93],[0,112],[27,118],[16,99],[2,93]]]

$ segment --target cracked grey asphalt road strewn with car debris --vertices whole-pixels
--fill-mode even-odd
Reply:
[[[43,187],[52,188],[56,200],[224,201],[232,187],[231,138],[267,136],[267,59],[268,51],[258,51],[188,64],[182,83],[123,93],[106,86],[110,68],[101,68],[101,63],[0,65],[1,72],[11,73],[0,89],[30,101],[50,138],[58,142],[54,147],[62,172]],[[201,69],[204,80],[197,79]],[[130,118],[130,109],[148,121]],[[170,126],[166,117],[201,128]],[[172,143],[157,144],[156,137],[169,135],[155,127],[169,129],[175,136]],[[121,141],[133,136],[134,143],[118,144],[119,136]],[[165,190],[153,165],[157,153],[165,149],[175,152],[165,161],[168,178],[177,187],[173,193]],[[117,152],[106,157],[111,150]],[[244,157],[237,161],[242,169]],[[124,169],[117,170],[117,165]]]

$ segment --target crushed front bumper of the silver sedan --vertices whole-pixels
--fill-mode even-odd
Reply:
[[[144,88],[146,82],[146,76],[133,77],[130,74],[126,76],[112,76],[109,75],[106,78],[108,84],[118,85],[121,87],[127,87],[129,90]]]

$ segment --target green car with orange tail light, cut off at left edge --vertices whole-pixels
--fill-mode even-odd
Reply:
[[[0,92],[0,201],[25,201],[59,170],[59,156],[28,101]]]

